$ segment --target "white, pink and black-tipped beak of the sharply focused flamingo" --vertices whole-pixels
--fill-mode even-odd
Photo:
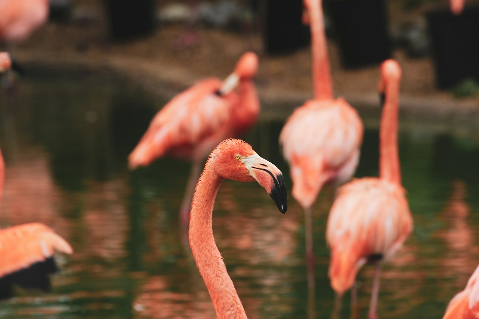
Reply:
[[[248,168],[250,176],[266,189],[281,213],[288,209],[285,177],[283,173],[258,154],[248,156],[242,160]]]

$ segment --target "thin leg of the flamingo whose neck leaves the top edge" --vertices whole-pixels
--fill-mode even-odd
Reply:
[[[306,271],[308,282],[308,319],[314,318],[314,252],[312,209],[305,209]]]

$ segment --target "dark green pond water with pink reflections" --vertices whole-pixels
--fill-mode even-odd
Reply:
[[[0,318],[215,318],[179,231],[188,163],[161,159],[126,168],[127,154],[165,101],[107,75],[46,70],[22,80],[15,105],[4,101],[1,225],[43,222],[75,253],[58,256],[62,271],[50,293],[19,290],[0,304]],[[265,118],[244,139],[285,173],[290,188],[277,144],[283,121]],[[479,263],[479,143],[411,125],[399,140],[415,224],[384,268],[378,314],[441,318]],[[356,176],[377,175],[377,144],[376,129],[366,130]],[[334,300],[324,239],[332,194],[326,187],[314,209],[318,318],[331,317]],[[306,318],[303,213],[294,199],[282,215],[257,183],[225,181],[213,224],[249,318]],[[372,275],[366,266],[358,277],[363,318]],[[349,318],[349,298],[342,318]]]

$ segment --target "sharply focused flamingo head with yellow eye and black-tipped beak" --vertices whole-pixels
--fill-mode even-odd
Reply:
[[[253,151],[250,144],[238,139],[225,140],[211,152],[208,162],[214,163],[217,175],[223,178],[239,182],[256,180],[273,198],[279,211],[286,212],[288,202],[283,173]]]

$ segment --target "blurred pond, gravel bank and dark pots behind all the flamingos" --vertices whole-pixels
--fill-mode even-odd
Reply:
[[[393,57],[403,69],[399,151],[415,225],[385,266],[379,316],[441,318],[479,262],[479,1],[459,16],[442,0],[324,8],[335,94],[365,122],[358,177],[377,176],[379,63]],[[251,50],[262,112],[243,139],[290,190],[278,135],[313,96],[302,12],[300,0],[50,1],[49,21],[9,46],[26,76],[1,92],[0,222],[45,223],[75,253],[60,256],[50,293],[19,289],[0,318],[215,318],[178,221],[189,163],[163,158],[129,171],[126,157],[169,99],[226,77]],[[314,209],[318,318],[331,316],[334,300],[324,240],[332,200],[326,187]],[[290,196],[282,216],[256,183],[225,181],[213,223],[249,318],[306,318],[297,202]],[[365,267],[358,277],[363,316],[372,275]]]

